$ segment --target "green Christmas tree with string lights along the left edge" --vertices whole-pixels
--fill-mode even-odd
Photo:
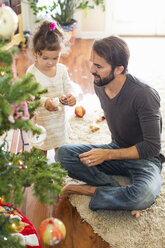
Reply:
[[[0,42],[3,43],[2,41]],[[33,186],[33,193],[43,204],[55,204],[55,196],[61,193],[66,171],[60,163],[47,164],[47,158],[41,150],[32,148],[25,151],[22,132],[40,135],[42,130],[32,124],[34,112],[40,105],[40,96],[45,90],[34,81],[33,75],[16,79],[13,69],[13,52],[0,48],[0,201],[11,204],[8,215],[0,211],[0,247],[23,247],[12,236],[13,225],[19,225],[18,219],[11,218],[14,208],[24,198],[26,187]],[[7,142],[7,132],[19,129],[22,149],[11,153]],[[10,215],[11,214],[11,215]]]

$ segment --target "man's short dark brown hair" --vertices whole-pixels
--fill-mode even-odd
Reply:
[[[109,36],[104,39],[96,40],[93,50],[108,64],[115,69],[116,66],[124,66],[123,74],[127,71],[130,52],[124,40],[117,36]]]

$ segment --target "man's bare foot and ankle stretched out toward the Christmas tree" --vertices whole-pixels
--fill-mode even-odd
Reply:
[[[78,195],[93,195],[97,187],[88,184],[68,184],[62,192],[63,195],[78,194]]]

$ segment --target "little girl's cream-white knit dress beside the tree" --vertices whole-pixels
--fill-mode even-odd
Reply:
[[[35,76],[42,89],[48,89],[46,94],[41,95],[42,104],[36,110],[35,121],[35,123],[46,129],[47,136],[42,145],[35,145],[35,147],[46,151],[54,149],[63,145],[69,136],[70,126],[67,121],[66,106],[60,103],[60,110],[50,112],[45,109],[44,103],[47,97],[61,97],[73,94],[73,83],[69,78],[66,66],[60,63],[56,65],[56,75],[54,77],[46,76],[34,64],[28,68],[27,73],[32,73]]]

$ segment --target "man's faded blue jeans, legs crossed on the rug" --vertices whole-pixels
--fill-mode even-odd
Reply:
[[[108,145],[63,145],[56,152],[56,161],[68,170],[72,178],[97,186],[89,207],[98,209],[137,210],[150,207],[161,188],[162,165],[157,158],[138,160],[108,160],[88,167],[79,159],[79,154],[93,148],[119,149],[116,144]],[[132,185],[119,187],[109,175],[128,176]]]

